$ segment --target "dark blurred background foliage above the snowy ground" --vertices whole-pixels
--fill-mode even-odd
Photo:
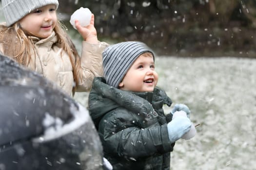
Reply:
[[[159,55],[256,57],[256,0],[59,0],[64,22],[79,7],[99,39],[140,40]],[[66,24],[70,27],[70,24]]]

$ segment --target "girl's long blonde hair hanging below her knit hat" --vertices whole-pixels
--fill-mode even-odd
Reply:
[[[58,19],[54,28],[58,38],[55,45],[61,48],[62,52],[68,54],[73,68],[74,82],[78,85],[80,58],[75,45],[65,30],[66,27]],[[28,33],[20,27],[19,22],[16,22],[10,27],[0,25],[0,44],[4,55],[12,57],[25,67],[28,66],[31,58],[36,55],[36,48],[33,41],[28,38]]]

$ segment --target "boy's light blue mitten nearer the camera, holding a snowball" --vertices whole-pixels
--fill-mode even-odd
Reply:
[[[177,111],[183,112],[183,111]],[[186,113],[184,113],[186,114]],[[186,134],[191,128],[191,121],[186,116],[178,116],[167,124],[168,136],[173,143]]]

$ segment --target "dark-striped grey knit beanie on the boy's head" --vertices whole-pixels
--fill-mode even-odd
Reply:
[[[144,52],[151,52],[154,57],[154,52],[146,44],[138,41],[121,42],[107,47],[102,52],[103,72],[107,84],[118,88],[126,72]]]

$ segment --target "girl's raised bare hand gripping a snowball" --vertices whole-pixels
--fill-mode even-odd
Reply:
[[[79,34],[81,34],[81,36],[83,37],[84,41],[92,44],[98,43],[97,31],[94,27],[94,14],[92,14],[91,23],[88,26],[82,27],[78,20],[75,20],[75,26]]]

